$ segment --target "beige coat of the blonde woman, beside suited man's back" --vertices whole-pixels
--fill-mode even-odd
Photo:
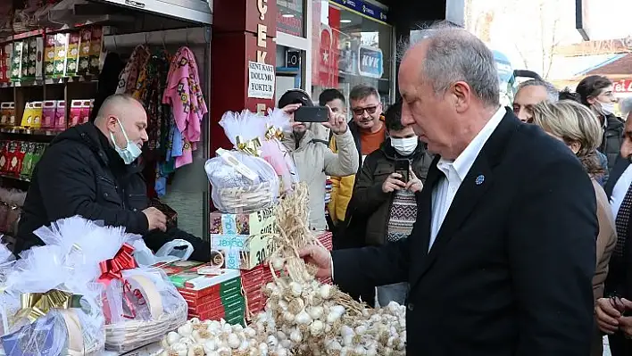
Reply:
[[[603,297],[603,282],[608,275],[608,263],[614,245],[617,244],[617,228],[614,225],[614,217],[605,195],[603,187],[593,180],[595,195],[597,197],[597,219],[599,220],[599,235],[597,236],[597,266],[593,277],[593,295],[595,301]]]

